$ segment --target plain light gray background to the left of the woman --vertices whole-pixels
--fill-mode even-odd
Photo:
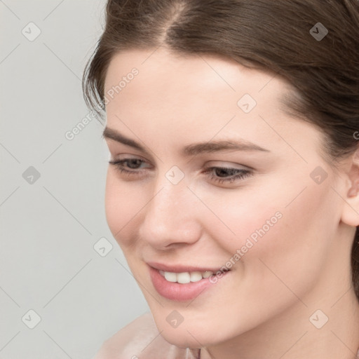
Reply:
[[[149,310],[107,226],[103,126],[65,137],[104,6],[0,0],[1,359],[90,359]]]

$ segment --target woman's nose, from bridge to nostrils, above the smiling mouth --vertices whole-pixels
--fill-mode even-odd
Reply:
[[[163,175],[157,181],[151,201],[144,208],[140,238],[157,250],[196,243],[201,238],[200,201],[187,188],[185,178],[172,184]]]

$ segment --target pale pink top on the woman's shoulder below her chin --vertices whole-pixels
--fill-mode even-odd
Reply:
[[[159,334],[152,314],[145,313],[104,341],[93,359],[199,359],[199,349],[178,348]],[[359,348],[355,356],[359,359]]]

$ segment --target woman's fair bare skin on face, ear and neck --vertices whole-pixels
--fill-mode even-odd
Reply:
[[[146,151],[106,142],[111,159],[140,158],[137,168],[124,167],[143,172],[109,165],[105,207],[163,338],[205,347],[203,359],[355,358],[359,304],[350,254],[359,225],[358,155],[335,172],[320,154],[320,129],[283,111],[280,99],[291,88],[273,74],[217,55],[133,49],[112,58],[105,93],[133,67],[137,76],[107,103],[107,126]],[[257,102],[248,114],[237,105],[245,93]],[[229,138],[269,151],[180,153],[187,144]],[[165,177],[173,165],[184,174],[178,184]],[[252,168],[252,175],[221,184],[204,172],[211,166]],[[318,166],[327,173],[320,184],[311,177]],[[229,275],[192,302],[156,292],[147,261],[219,268],[276,212],[282,217]],[[184,318],[176,328],[166,321],[173,310]],[[320,329],[310,320],[318,310],[318,325],[328,318]]]

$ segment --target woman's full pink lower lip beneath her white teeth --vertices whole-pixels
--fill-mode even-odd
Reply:
[[[210,278],[203,278],[198,280],[198,282],[182,284],[177,282],[168,282],[168,280],[160,274],[158,269],[154,269],[149,266],[149,274],[157,292],[161,294],[162,297],[178,302],[198,297],[198,295],[208,289],[208,287],[218,284],[227,275],[227,273],[229,273],[229,271],[222,273],[221,278],[217,277],[216,283],[211,283]]]

